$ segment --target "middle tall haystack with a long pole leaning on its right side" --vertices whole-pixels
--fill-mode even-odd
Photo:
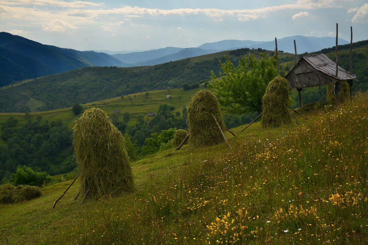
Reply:
[[[224,142],[224,138],[211,113],[225,133],[226,127],[219,101],[208,90],[198,91],[188,105],[187,122],[191,147],[205,147]]]

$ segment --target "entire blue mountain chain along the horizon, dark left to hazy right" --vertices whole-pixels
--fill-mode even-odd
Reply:
[[[278,39],[278,49],[294,53],[294,39],[298,54],[335,45],[334,37],[291,36]],[[347,43],[348,41],[339,39],[339,44]],[[166,47],[125,53],[129,51],[95,52],[59,48],[0,32],[0,87],[23,79],[47,76],[86,66],[149,66],[237,48],[274,50],[275,41],[222,40],[204,43],[193,48]]]

